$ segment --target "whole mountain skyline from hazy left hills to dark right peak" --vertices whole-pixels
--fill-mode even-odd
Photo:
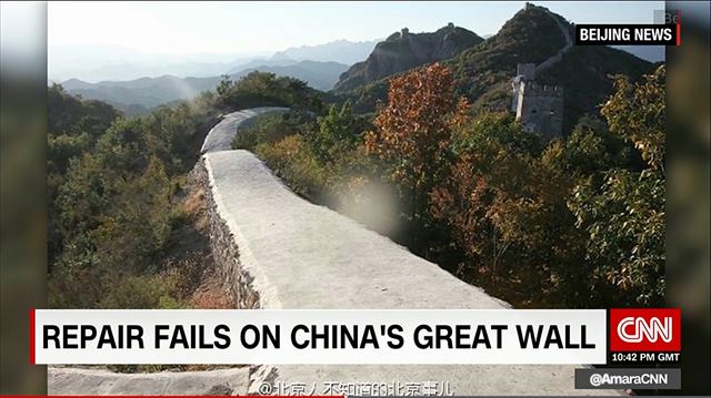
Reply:
[[[371,112],[387,96],[388,79],[420,65],[441,61],[451,68],[458,92],[477,108],[503,109],[510,101],[510,79],[517,63],[540,63],[564,45],[565,30],[572,25],[563,17],[529,4],[515,13],[495,34],[487,39],[461,27],[448,24],[434,32],[411,33],[402,29],[375,42],[338,40],[321,45],[290,48],[264,58],[232,59],[227,55],[191,59],[202,72],[193,76],[164,73],[151,78],[87,82],[69,79],[64,89],[86,99],[106,101],[127,114],[141,114],[151,108],[190,99],[212,90],[229,74],[236,80],[259,70],[306,81],[314,89],[332,90],[337,100],[351,100],[354,110]],[[565,121],[595,112],[595,106],[612,89],[609,74],[639,76],[652,63],[632,55],[663,60],[663,48],[572,47],[560,62],[538,76],[543,83],[565,89]],[[116,59],[136,58],[119,51]],[[354,61],[360,61],[356,62]],[[350,65],[350,68],[349,68]],[[106,67],[122,68],[121,63]],[[127,67],[128,68],[128,67]],[[170,69],[174,71],[176,69]],[[569,126],[567,124],[565,126]]]

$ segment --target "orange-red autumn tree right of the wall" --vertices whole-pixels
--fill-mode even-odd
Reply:
[[[448,146],[463,120],[452,73],[434,63],[390,80],[388,104],[365,134],[365,147],[385,165],[389,177],[410,196],[411,221],[421,224],[427,196],[447,164]]]

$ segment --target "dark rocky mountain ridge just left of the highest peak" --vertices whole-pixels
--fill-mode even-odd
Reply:
[[[429,33],[410,33],[405,28],[378,43],[365,61],[349,68],[334,90],[352,90],[398,72],[442,61],[482,41],[477,33],[452,23]]]

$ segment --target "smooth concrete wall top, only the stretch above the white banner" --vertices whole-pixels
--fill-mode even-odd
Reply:
[[[505,308],[324,206],[293,194],[247,151],[203,156],[218,213],[262,308]]]

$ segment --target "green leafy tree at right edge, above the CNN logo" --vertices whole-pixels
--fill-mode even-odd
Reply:
[[[608,305],[662,305],[664,297],[664,67],[641,83],[625,78],[602,106],[610,131],[631,141],[647,167],[612,169],[575,187],[569,207],[588,235],[591,283]]]

